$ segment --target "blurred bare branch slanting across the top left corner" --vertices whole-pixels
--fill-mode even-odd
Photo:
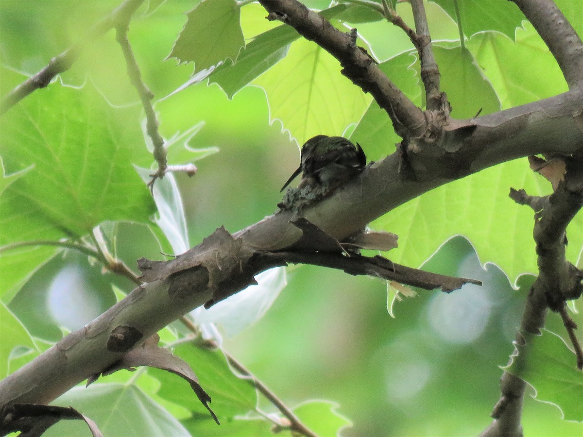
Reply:
[[[51,62],[49,62],[45,68],[36,73],[36,75],[29,77],[29,79],[24,80],[24,82],[16,86],[12,91],[10,91],[2,98],[2,101],[0,102],[0,115],[4,114],[4,112],[8,111],[11,107],[13,107],[16,103],[18,103],[24,97],[28,96],[33,91],[48,86],[51,80],[59,73],[65,72],[71,68],[87,44],[92,43],[92,41],[100,38],[109,30],[113,29],[118,17],[122,17],[128,14],[133,15],[135,10],[139,8],[143,1],[144,0],[126,0],[119,8],[113,10],[113,12],[111,12],[103,20],[93,26],[85,38],[83,38],[83,40],[71,45],[71,47],[62,52],[60,55],[52,58]]]

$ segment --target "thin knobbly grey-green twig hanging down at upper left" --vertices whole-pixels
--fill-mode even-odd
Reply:
[[[143,83],[142,73],[140,72],[138,62],[134,56],[134,51],[132,51],[132,46],[129,44],[128,28],[130,20],[131,16],[126,16],[124,21],[120,20],[120,22],[118,22],[117,26],[115,26],[115,39],[120,44],[121,50],[124,53],[125,63],[128,66],[129,82],[131,82],[138,91],[138,96],[142,101],[142,106],[146,113],[146,132],[150,139],[152,139],[152,145],[154,146],[153,155],[158,163],[158,169],[155,173],[150,175],[152,179],[148,183],[150,191],[152,191],[156,179],[161,179],[166,174],[166,168],[168,166],[166,160],[166,147],[164,147],[164,139],[158,131],[156,112],[154,112],[154,107],[152,106],[154,94],[152,94],[152,91],[150,91],[146,84]]]

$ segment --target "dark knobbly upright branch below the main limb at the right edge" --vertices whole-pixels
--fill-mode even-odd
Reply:
[[[581,295],[582,274],[565,258],[565,231],[582,206],[583,161],[569,158],[564,182],[560,182],[557,190],[550,196],[548,206],[535,214],[533,236],[538,254],[539,276],[526,298],[517,332],[518,344],[525,344],[522,333],[540,333],[549,308],[553,311],[564,311],[566,299]],[[579,362],[578,357],[577,364]],[[521,415],[525,390],[526,383],[519,375],[504,372],[500,380],[501,397],[492,413],[494,421],[482,436],[522,436]]]

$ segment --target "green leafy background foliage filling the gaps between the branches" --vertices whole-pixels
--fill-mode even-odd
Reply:
[[[234,232],[271,214],[279,187],[297,167],[296,142],[317,133],[350,136],[372,160],[395,150],[398,137],[386,114],[339,74],[338,62],[326,52],[300,40],[293,29],[265,20],[265,10],[255,3],[207,0],[195,8],[197,3],[151,0],[132,20],[129,38],[143,80],[158,99],[170,163],[200,160],[198,174],[167,177],[157,182],[155,202],[149,196],[140,178],[147,171],[136,171],[152,164],[142,109],[111,32],[94,41],[71,71],[3,117],[0,245],[61,238],[92,242],[88,235],[101,225],[111,252],[134,267],[141,256],[180,253],[220,225]],[[453,2],[426,4],[454,117],[567,90],[515,5],[459,3],[463,47]],[[583,11],[575,3],[557,1],[583,34]],[[5,94],[118,2],[2,0],[1,6]],[[399,3],[397,12],[412,25],[409,5]],[[336,5],[324,15],[335,26],[357,27],[359,44],[423,105],[416,53],[401,30],[364,6]],[[517,160],[435,189],[372,224],[399,235],[391,259],[417,267],[433,255],[427,269],[479,279],[484,287],[465,286],[451,295],[420,291],[392,308],[392,319],[387,307],[393,291],[387,297],[384,283],[302,266],[288,269],[286,286],[282,272],[272,274],[243,303],[193,317],[209,334],[210,322],[217,323],[228,334],[223,347],[318,434],[339,429],[346,436],[477,434],[490,422],[499,395],[498,366],[508,361],[532,283],[528,274],[536,273],[532,212],[508,198],[510,186],[531,195],[551,191],[526,159]],[[567,256],[573,262],[583,245],[582,227],[579,216],[568,229]],[[467,239],[450,239],[455,235]],[[0,377],[133,288],[79,251],[41,245],[0,255]],[[249,305],[250,317],[234,320],[241,305]],[[578,319],[582,326],[581,313]],[[562,333],[554,315],[547,327]],[[183,333],[177,324],[161,338],[171,344]],[[554,358],[564,362],[559,351],[568,351],[559,337],[545,333],[540,340],[542,350],[556,348]],[[106,435],[270,434],[269,422],[254,411],[272,414],[275,408],[233,375],[220,351],[177,344],[174,352],[193,366],[212,396],[220,428],[196,405],[187,383],[151,369],[115,373],[57,402],[92,417]],[[543,358],[539,369],[556,369],[555,361]],[[560,408],[526,400],[526,435],[581,435],[581,424],[567,421],[583,420],[577,403],[581,375],[572,378],[577,389],[563,398],[557,397],[561,386],[550,385],[544,375],[529,380],[540,385],[540,399]],[[567,420],[561,420],[563,414]],[[343,428],[349,423],[353,426]],[[82,432],[84,425],[74,423],[50,431]]]

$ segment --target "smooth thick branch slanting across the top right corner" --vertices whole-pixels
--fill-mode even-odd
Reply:
[[[513,0],[543,38],[570,89],[583,86],[583,43],[553,0]]]

